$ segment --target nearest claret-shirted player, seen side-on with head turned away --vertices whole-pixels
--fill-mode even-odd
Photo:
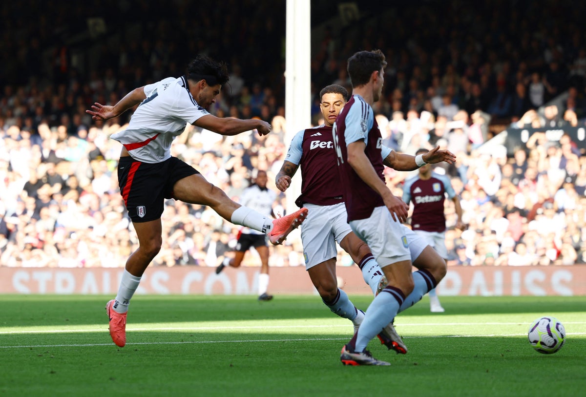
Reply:
[[[342,347],[346,365],[390,365],[372,357],[366,346],[401,310],[408,309],[435,288],[446,272],[445,261],[429,246],[413,255],[417,235],[402,223],[408,206],[384,181],[382,137],[372,104],[379,100],[387,65],[380,50],[361,51],[348,60],[352,97],[333,127],[340,182],[352,230],[369,245],[389,284],[374,297],[358,332]],[[415,156],[415,165],[426,161]],[[451,163],[451,161],[448,161]],[[411,258],[425,267],[411,274]],[[439,258],[439,260],[438,260]],[[406,351],[405,351],[406,352]]]

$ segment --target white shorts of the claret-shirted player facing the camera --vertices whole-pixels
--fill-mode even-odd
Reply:
[[[308,270],[328,259],[336,258],[336,241],[340,244],[352,229],[347,222],[348,215],[344,203],[333,206],[305,203],[304,207],[308,209],[308,213],[301,225],[301,242],[305,269]]]

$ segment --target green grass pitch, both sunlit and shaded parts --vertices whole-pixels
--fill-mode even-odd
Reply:
[[[586,389],[586,297],[427,297],[395,320],[409,349],[369,344],[390,367],[345,367],[352,324],[318,296],[144,296],[127,345],[108,335],[109,296],[0,295],[2,396],[578,396]],[[371,297],[353,296],[366,309]],[[557,317],[567,341],[534,351]]]

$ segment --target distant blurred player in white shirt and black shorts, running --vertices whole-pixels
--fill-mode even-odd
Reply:
[[[240,195],[239,203],[252,208],[259,214],[275,217],[272,206],[277,199],[277,193],[267,187],[267,172],[257,170],[254,182],[252,186],[244,189]],[[216,274],[220,274],[226,266],[239,268],[244,254],[253,247],[258,252],[261,262],[260,274],[258,275],[258,300],[271,300],[272,295],[267,293],[269,281],[267,235],[260,231],[243,227],[239,232],[234,258],[224,258],[224,261],[217,266]]]

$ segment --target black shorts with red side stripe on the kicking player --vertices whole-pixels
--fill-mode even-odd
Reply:
[[[199,172],[176,157],[154,164],[121,157],[118,186],[132,222],[161,218],[165,198],[173,198],[175,183],[193,174]]]

